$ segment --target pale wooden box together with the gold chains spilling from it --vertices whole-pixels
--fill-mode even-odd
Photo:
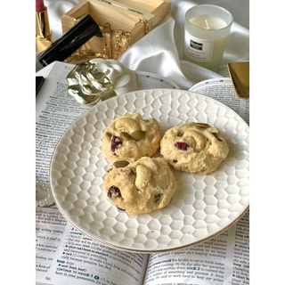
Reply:
[[[170,6],[170,0],[82,0],[61,16],[62,32],[89,14],[102,29],[103,37],[92,37],[81,51],[117,59],[128,46],[159,26]]]

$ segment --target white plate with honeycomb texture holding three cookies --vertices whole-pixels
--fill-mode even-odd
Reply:
[[[111,162],[101,151],[102,133],[114,118],[134,111],[156,118],[162,134],[186,121],[214,125],[230,145],[213,174],[175,171],[171,203],[142,216],[119,211],[103,190]],[[248,133],[239,115],[204,95],[171,89],[119,95],[87,110],[62,135],[50,167],[53,198],[70,224],[110,247],[149,253],[190,246],[223,232],[247,211]]]

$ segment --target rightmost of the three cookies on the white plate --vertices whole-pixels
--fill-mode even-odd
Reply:
[[[228,143],[219,129],[203,123],[184,123],[167,130],[160,154],[176,170],[208,174],[226,159]]]

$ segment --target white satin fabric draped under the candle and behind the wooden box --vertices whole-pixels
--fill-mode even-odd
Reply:
[[[79,0],[45,0],[48,7],[53,40],[62,35],[61,15]],[[189,61],[183,61],[185,12],[195,4],[217,4],[232,12],[234,22],[224,51],[220,69],[213,72]],[[213,77],[229,77],[227,64],[249,61],[249,1],[248,0],[173,0],[171,11],[163,24],[142,37],[118,59],[126,68],[159,74],[172,79],[181,89]]]

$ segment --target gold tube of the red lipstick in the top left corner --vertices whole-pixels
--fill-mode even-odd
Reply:
[[[45,7],[45,6],[44,6]],[[44,51],[52,45],[52,33],[48,20],[48,12],[45,7],[42,11],[36,11],[36,48],[37,53]]]

